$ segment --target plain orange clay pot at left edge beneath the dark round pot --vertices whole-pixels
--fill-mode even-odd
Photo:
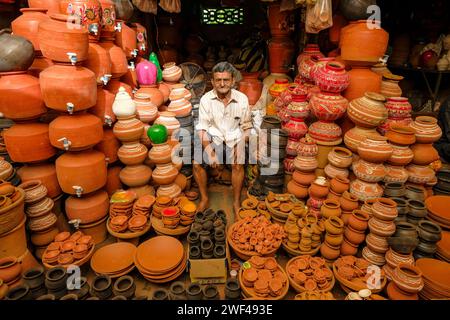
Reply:
[[[15,121],[32,120],[46,111],[37,78],[26,71],[0,72],[0,112],[4,117]]]

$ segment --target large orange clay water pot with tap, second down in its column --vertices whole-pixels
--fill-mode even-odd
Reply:
[[[39,75],[45,105],[57,111],[76,112],[97,102],[95,74],[84,67],[54,65]]]

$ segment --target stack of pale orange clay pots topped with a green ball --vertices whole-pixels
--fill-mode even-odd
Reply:
[[[179,169],[173,163],[172,147],[167,142],[168,132],[168,128],[161,124],[148,129],[147,135],[153,145],[148,157],[156,165],[152,173],[152,180],[158,185],[156,195],[176,198],[181,193],[180,186],[175,183]]]

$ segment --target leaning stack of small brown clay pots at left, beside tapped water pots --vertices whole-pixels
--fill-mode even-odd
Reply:
[[[37,256],[59,233],[56,226],[57,217],[53,213],[54,201],[47,197],[47,188],[40,180],[30,180],[19,185],[25,191],[25,213],[28,218],[28,229],[31,231],[31,242],[36,246]]]

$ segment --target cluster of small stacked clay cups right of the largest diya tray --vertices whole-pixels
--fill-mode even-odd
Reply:
[[[289,214],[284,230],[287,239],[283,241],[283,248],[293,256],[300,254],[314,255],[322,244],[322,234],[325,231],[322,220],[313,214],[308,214],[308,208],[294,209]]]

